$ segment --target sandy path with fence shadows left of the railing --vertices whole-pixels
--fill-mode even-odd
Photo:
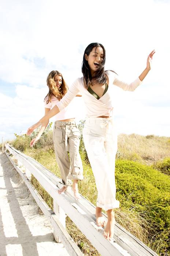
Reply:
[[[0,256],[69,256],[20,175],[0,153]]]

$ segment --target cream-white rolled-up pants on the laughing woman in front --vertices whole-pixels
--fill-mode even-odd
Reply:
[[[117,132],[111,117],[86,118],[83,139],[97,186],[96,205],[104,210],[119,207],[116,200],[115,156]]]

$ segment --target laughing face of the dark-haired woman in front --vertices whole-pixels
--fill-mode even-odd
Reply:
[[[104,53],[100,46],[94,47],[89,55],[85,54],[85,59],[88,61],[92,74],[97,70],[99,64],[103,61],[103,58]]]

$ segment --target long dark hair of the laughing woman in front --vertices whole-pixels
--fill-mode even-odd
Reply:
[[[94,47],[101,47],[103,49],[103,60],[101,64],[99,65],[99,68],[97,68],[96,72],[91,75],[90,68],[88,61],[85,59],[85,54],[89,55],[90,52]],[[84,51],[84,56],[83,56],[83,61],[82,61],[82,73],[86,82],[86,86],[88,88],[89,84],[91,83],[91,80],[94,79],[98,83],[106,83],[107,79],[105,76],[105,71],[104,71],[104,65],[106,61],[106,50],[104,49],[104,46],[101,45],[101,43],[90,43]]]

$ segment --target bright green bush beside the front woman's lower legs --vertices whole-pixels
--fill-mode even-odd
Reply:
[[[151,229],[155,233],[169,232],[165,240],[170,239],[170,177],[151,167],[128,160],[117,160],[115,178],[117,198],[122,205],[135,207],[141,215],[147,216]],[[170,250],[168,243],[165,243]]]

